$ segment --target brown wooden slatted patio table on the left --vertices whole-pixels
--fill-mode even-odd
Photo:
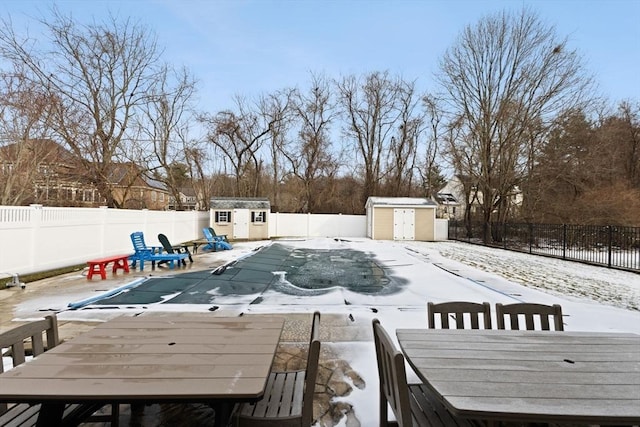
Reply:
[[[207,403],[226,426],[235,403],[264,393],[284,320],[118,317],[0,375],[0,401],[41,403],[54,425],[65,403]],[[53,424],[52,424],[53,423]]]

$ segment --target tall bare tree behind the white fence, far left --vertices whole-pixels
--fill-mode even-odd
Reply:
[[[53,129],[107,204],[119,207],[110,174],[125,157],[131,118],[156,79],[155,38],[129,20],[81,25],[55,8],[51,20],[41,23],[49,44],[22,39],[2,21],[0,53],[58,100]]]

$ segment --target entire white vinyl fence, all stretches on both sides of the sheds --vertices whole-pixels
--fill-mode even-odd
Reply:
[[[149,246],[159,245],[159,233],[172,243],[199,239],[210,221],[198,211],[0,206],[0,278],[131,253],[134,231]],[[365,215],[271,213],[269,237],[365,238],[366,224]],[[447,230],[446,220],[436,220],[436,240],[446,240]]]

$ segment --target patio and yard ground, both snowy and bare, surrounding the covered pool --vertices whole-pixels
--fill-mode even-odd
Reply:
[[[320,241],[322,247],[340,245],[334,239]],[[267,242],[268,243],[268,242]],[[198,253],[194,263],[186,268],[170,270],[147,267],[144,272],[132,271],[128,274],[113,276],[111,272],[107,280],[94,278],[89,281],[85,271],[77,271],[38,282],[28,283],[25,289],[19,287],[0,290],[0,331],[10,329],[18,322],[26,322],[44,316],[49,311],[58,313],[61,339],[69,340],[78,334],[95,327],[100,322],[119,315],[153,316],[157,313],[171,311],[180,316],[184,312],[197,310],[210,316],[260,316],[274,315],[285,317],[285,326],[281,336],[281,344],[274,368],[294,369],[305,361],[305,350],[308,345],[311,313],[319,310],[322,313],[320,337],[322,351],[320,356],[320,372],[314,399],[314,414],[317,426],[346,427],[368,426],[377,423],[377,375],[375,373],[375,354],[372,344],[371,319],[379,317],[388,329],[397,327],[421,327],[425,325],[427,300],[486,300],[491,303],[524,300],[542,303],[560,303],[567,313],[567,329],[571,330],[624,330],[638,333],[640,313],[625,310],[593,301],[578,301],[575,298],[564,299],[557,291],[541,292],[532,287],[523,286],[506,279],[513,277],[519,267],[524,269],[527,277],[538,277],[541,282],[548,283],[554,276],[563,282],[582,283],[587,286],[589,278],[576,278],[573,270],[596,279],[593,286],[611,289],[613,286],[602,284],[599,276],[617,278],[618,283],[627,283],[628,287],[618,294],[627,295],[630,302],[621,306],[637,306],[640,277],[632,273],[621,273],[596,269],[589,266],[578,266],[574,263],[560,263],[558,272],[552,271],[548,261],[540,257],[518,254],[526,260],[517,259],[507,265],[510,276],[500,276],[478,267],[471,267],[451,258],[439,256],[440,252],[459,250],[463,256],[477,262],[486,258],[485,249],[476,249],[464,244],[408,243],[408,242],[353,242],[345,245],[362,245],[363,250],[376,253],[379,264],[393,280],[405,286],[400,294],[363,295],[344,290],[334,290],[324,296],[288,296],[278,292],[264,294],[264,304],[252,305],[248,302],[234,303],[233,296],[224,296],[216,305],[198,305],[189,308],[187,305],[168,308],[164,305],[122,306],[86,310],[68,310],[67,304],[103,294],[136,279],[146,277],[165,277],[186,272],[212,271],[233,260],[251,254],[260,244],[248,242],[234,245],[234,250],[224,252]],[[314,242],[318,243],[318,242]],[[373,248],[373,249],[372,249]],[[478,251],[477,253],[475,251]],[[482,251],[482,252],[480,252]],[[506,262],[507,252],[496,255],[501,262]],[[340,260],[337,260],[340,262]],[[544,262],[544,265],[542,263]],[[495,259],[490,264],[497,264]],[[540,263],[539,271],[532,270]],[[566,266],[567,271],[560,270]],[[536,267],[537,268],[537,267]],[[533,286],[536,287],[536,286]],[[262,295],[261,295],[262,296]],[[216,296],[218,297],[218,296]],[[226,299],[225,299],[226,298]],[[251,299],[254,299],[251,296]],[[249,300],[247,300],[249,301]],[[164,308],[163,308],[164,307]],[[184,309],[186,311],[181,311]],[[191,310],[191,311],[190,311]],[[596,313],[599,314],[596,315]],[[187,412],[185,412],[187,411]],[[122,425],[205,425],[211,413],[206,407],[177,408],[154,405],[145,408],[142,418],[131,418],[126,407],[121,413]],[[179,421],[177,421],[179,420]],[[184,421],[188,420],[187,423]]]

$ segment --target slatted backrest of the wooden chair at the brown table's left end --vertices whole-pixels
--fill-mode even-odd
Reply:
[[[43,339],[43,334],[46,336]],[[0,349],[11,349],[13,366],[18,366],[26,361],[27,351],[25,341],[31,340],[31,353],[34,357],[45,350],[53,348],[60,343],[58,335],[58,319],[55,314],[49,314],[42,320],[36,320],[0,334]],[[3,364],[0,364],[0,372],[4,372]],[[0,414],[7,410],[7,405],[0,403]]]

